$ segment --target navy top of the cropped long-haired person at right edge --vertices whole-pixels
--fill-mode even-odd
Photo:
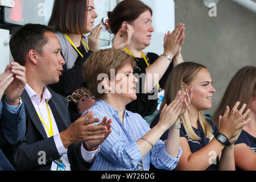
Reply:
[[[240,136],[238,137],[236,144],[245,143],[252,151],[256,153],[256,138],[251,136],[245,130],[242,130]],[[237,171],[242,170],[241,168],[236,167]]]

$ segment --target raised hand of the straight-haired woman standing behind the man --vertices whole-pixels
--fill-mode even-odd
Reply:
[[[102,31],[102,23],[98,24],[88,35],[88,47],[91,51],[100,49],[100,36]]]

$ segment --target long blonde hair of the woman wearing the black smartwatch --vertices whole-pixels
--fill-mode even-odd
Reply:
[[[193,62],[185,62],[178,64],[170,73],[164,93],[163,104],[160,108],[162,111],[163,106],[165,104],[169,105],[172,101],[174,101],[176,97],[176,93],[179,90],[183,90],[183,82],[187,85],[191,83],[195,75],[202,69],[207,69],[204,65],[193,63]],[[204,118],[203,111],[199,111],[198,115],[199,123],[204,130],[205,136],[207,138],[212,138],[212,126],[207,122]],[[181,116],[181,121],[183,123],[184,129],[188,134],[189,138],[192,140],[201,140],[201,138],[195,133],[191,126],[191,122],[189,119],[189,109]]]

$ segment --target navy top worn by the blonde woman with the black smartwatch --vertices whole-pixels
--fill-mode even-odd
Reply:
[[[159,118],[160,118],[160,114],[156,115],[155,119],[151,123],[151,126],[150,126],[151,128],[158,123]],[[207,122],[210,124],[210,126],[212,126],[212,133],[215,136],[215,134],[218,133],[217,126],[214,125],[214,123],[210,119],[207,119]],[[205,137],[204,130],[201,127],[200,123],[198,123],[198,127],[199,127],[198,130],[193,127],[193,130],[201,138],[201,140],[193,141],[191,140],[191,138],[188,137],[188,134],[186,133],[184,126],[181,124],[180,137],[185,137],[188,140],[188,144],[192,153],[200,150],[210,142],[210,139]],[[162,135],[160,139],[166,140],[167,138],[168,138],[168,130]],[[209,154],[209,158],[211,156],[213,156],[213,154]],[[205,169],[205,171],[216,171],[217,168],[218,168],[218,157],[217,157],[217,160],[213,162],[213,164],[211,164],[207,169]]]

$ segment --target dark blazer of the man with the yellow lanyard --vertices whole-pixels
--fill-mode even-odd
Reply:
[[[49,88],[48,88],[49,89]],[[52,98],[48,101],[54,115],[59,133],[71,125],[68,107],[62,96],[49,91]],[[47,137],[46,131],[40,121],[38,114],[32,104],[26,90],[22,93],[26,110],[26,134],[24,139],[13,146],[13,153],[9,160],[16,170],[44,170],[49,171],[53,160],[60,159],[53,137]],[[86,170],[92,163],[87,163],[82,159],[81,143],[75,143],[68,147],[68,160],[71,170]],[[46,154],[46,164],[42,163],[42,153]]]

